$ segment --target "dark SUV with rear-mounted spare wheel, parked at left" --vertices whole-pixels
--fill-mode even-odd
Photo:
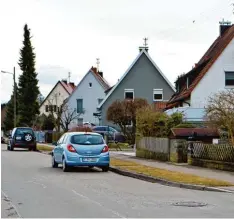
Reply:
[[[14,128],[7,145],[7,150],[13,151],[15,148],[25,148],[36,151],[37,142],[33,129],[29,127]]]

